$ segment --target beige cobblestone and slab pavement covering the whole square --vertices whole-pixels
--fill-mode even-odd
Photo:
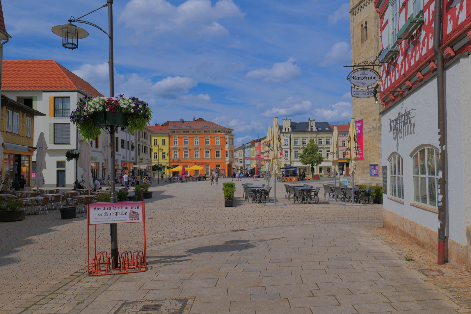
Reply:
[[[132,313],[124,301],[163,299],[187,299],[182,313],[469,313],[469,274],[382,229],[381,205],[293,204],[280,184],[288,206],[246,204],[235,183],[233,208],[209,182],[152,187],[140,274],[87,277],[83,218],[2,224],[0,314]],[[139,248],[138,225],[119,225],[121,249]],[[106,249],[109,231],[98,235]]]

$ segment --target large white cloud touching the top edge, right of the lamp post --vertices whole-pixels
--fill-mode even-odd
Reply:
[[[193,37],[225,36],[229,32],[217,21],[244,15],[232,0],[219,0],[214,6],[210,0],[187,0],[178,7],[166,0],[130,0],[119,21],[139,34],[176,32]]]

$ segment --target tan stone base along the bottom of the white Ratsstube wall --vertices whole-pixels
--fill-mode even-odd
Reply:
[[[383,227],[437,255],[437,231],[419,225],[385,208],[383,208]],[[471,271],[471,261],[468,258],[471,258],[471,226],[466,228],[466,239],[466,246],[452,239],[447,239],[446,258],[448,263],[455,267],[463,271]]]

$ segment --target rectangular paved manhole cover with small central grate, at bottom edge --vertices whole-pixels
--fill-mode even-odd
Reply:
[[[188,314],[195,298],[166,300],[120,301],[113,314]]]

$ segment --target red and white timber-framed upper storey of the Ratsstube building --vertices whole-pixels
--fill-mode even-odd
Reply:
[[[407,89],[413,90],[423,80],[432,75],[436,69],[435,54],[433,52],[433,23],[434,1],[417,0],[422,5],[422,13],[417,16],[413,13],[412,0],[396,0],[397,6],[393,7],[394,0],[375,0],[376,12],[380,15],[380,31],[382,48],[398,49],[395,56],[390,58],[381,67],[382,90]],[[414,1],[415,2],[415,1]],[[412,33],[408,33],[406,39],[391,39],[391,27],[393,19],[392,8],[398,8],[397,31],[400,37],[401,30],[411,23],[409,17],[418,17],[422,20]],[[442,50],[444,51],[444,63],[447,64],[455,56],[469,55],[471,47],[471,1],[470,0],[443,0],[442,21]],[[396,37],[396,38],[397,38]],[[406,91],[393,91],[382,93],[381,101],[384,106],[389,106],[404,96]]]

